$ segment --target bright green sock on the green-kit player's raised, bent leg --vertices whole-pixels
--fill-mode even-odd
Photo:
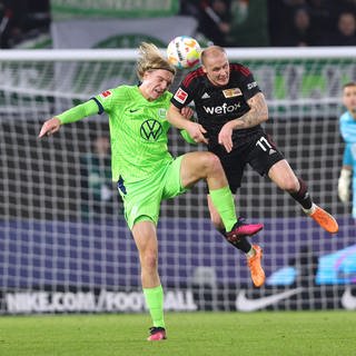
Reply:
[[[226,231],[231,231],[235,222],[237,221],[237,217],[230,188],[227,186],[210,190],[209,194],[215,208],[221,217]]]

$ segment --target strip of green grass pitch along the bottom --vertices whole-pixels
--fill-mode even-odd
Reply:
[[[168,313],[149,343],[146,314],[1,316],[1,356],[354,356],[356,312]]]

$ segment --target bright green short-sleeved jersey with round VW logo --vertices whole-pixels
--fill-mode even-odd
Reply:
[[[109,116],[113,181],[142,180],[172,160],[166,119],[171,96],[148,101],[137,86],[120,86],[95,97],[99,112]]]

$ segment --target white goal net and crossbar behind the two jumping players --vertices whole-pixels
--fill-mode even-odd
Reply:
[[[145,310],[138,254],[110,181],[107,117],[37,138],[46,119],[106,89],[137,83],[136,55],[1,51],[0,313]],[[267,132],[340,230],[325,233],[289,195],[248,169],[237,210],[265,224],[254,240],[264,248],[267,281],[256,289],[245,257],[212,228],[199,182],[161,206],[165,307],[355,309],[356,229],[350,205],[337,198],[337,178],[342,86],[356,80],[356,50],[229,49],[228,55],[254,72],[269,105]],[[174,128],[169,147],[175,156],[197,149]]]

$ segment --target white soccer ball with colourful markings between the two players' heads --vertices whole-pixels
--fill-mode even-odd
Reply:
[[[192,37],[178,36],[169,42],[167,57],[178,69],[192,68],[199,63],[200,46]]]

